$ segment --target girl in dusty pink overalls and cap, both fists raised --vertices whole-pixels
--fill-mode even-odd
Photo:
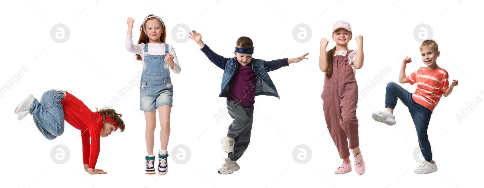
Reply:
[[[325,72],[324,90],[321,94],[324,118],[339,157],[343,159],[343,164],[334,173],[345,174],[351,171],[349,146],[353,152],[355,170],[358,174],[363,174],[365,163],[358,139],[358,84],[355,78],[355,70],[363,66],[363,36],[355,38],[358,43],[357,51],[348,49],[348,42],[353,36],[348,22],[334,23],[331,36],[336,46],[327,53],[320,53],[319,69]],[[322,38],[320,43],[321,52],[325,52],[328,40]]]

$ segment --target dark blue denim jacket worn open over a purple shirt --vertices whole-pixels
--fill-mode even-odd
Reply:
[[[207,56],[207,58],[212,61],[213,64],[224,70],[224,75],[222,76],[222,87],[219,97],[227,97],[228,83],[237,71],[237,66],[239,66],[239,62],[237,62],[237,57],[224,58],[213,52],[207,44],[205,44],[205,46],[203,46],[201,50]],[[271,77],[269,77],[269,74],[267,72],[275,71],[281,67],[289,66],[289,64],[287,63],[287,58],[276,59],[272,61],[264,61],[262,59],[252,58],[250,64],[252,65],[252,70],[254,70],[257,75],[255,84],[256,96],[267,95],[274,96],[280,99],[279,94],[277,93],[277,89],[275,88],[274,83],[272,82]]]

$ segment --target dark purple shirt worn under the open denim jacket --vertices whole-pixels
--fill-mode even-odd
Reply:
[[[237,65],[232,80],[228,83],[228,100],[239,102],[244,106],[254,105],[256,98],[256,72],[252,70],[252,64],[247,66]]]

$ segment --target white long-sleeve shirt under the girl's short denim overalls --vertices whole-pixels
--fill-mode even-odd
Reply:
[[[138,45],[133,44],[133,35],[126,34],[126,50],[133,54],[138,54],[143,59],[143,66],[145,63],[145,44],[140,43]],[[179,74],[181,72],[180,64],[178,64],[177,55],[175,54],[175,49],[173,46],[168,44],[168,53],[173,55],[173,62],[175,62],[174,69],[170,70],[175,74]],[[148,54],[150,55],[164,55],[165,54],[165,43],[148,43]]]

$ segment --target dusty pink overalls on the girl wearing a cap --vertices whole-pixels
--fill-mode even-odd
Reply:
[[[349,50],[346,56],[333,57],[333,74],[324,77],[324,90],[321,93],[326,125],[341,159],[349,157],[348,140],[350,149],[359,145],[356,117],[358,85],[348,62],[348,55],[352,51]]]

